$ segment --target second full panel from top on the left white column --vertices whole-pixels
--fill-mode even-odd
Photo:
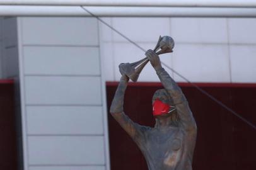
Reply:
[[[24,47],[25,74],[100,75],[96,47]]]

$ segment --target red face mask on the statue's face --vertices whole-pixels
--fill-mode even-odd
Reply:
[[[153,103],[153,116],[165,115],[175,110],[174,106],[163,103],[160,99],[156,99]]]

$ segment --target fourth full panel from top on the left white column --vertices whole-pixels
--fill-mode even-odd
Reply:
[[[103,135],[101,106],[27,106],[28,134]]]

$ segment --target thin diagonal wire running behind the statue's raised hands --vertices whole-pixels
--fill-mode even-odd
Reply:
[[[110,28],[111,30],[115,31],[116,33],[118,33],[121,37],[125,38],[128,42],[131,42],[133,45],[135,45],[136,47],[140,48],[141,50],[143,50],[143,52],[146,52],[146,50],[139,46],[136,42],[132,41],[130,38],[126,37],[123,33],[121,33],[119,30],[116,30],[115,28],[113,28],[111,25],[109,25],[108,23],[106,23],[105,21],[103,21],[100,17],[96,16],[95,14],[91,13],[88,9],[84,8],[84,6],[81,6],[82,9],[84,9],[84,11],[86,11],[87,13],[91,14],[91,16],[95,17],[97,20],[101,21],[104,25],[108,26],[108,28]],[[229,108],[228,106],[224,105],[221,101],[219,101],[218,99],[214,98],[214,96],[212,96],[211,94],[207,93],[206,91],[204,91],[202,88],[200,88],[199,86],[197,86],[196,84],[194,84],[193,82],[189,81],[189,79],[187,79],[186,77],[182,76],[182,74],[178,73],[177,71],[175,71],[174,69],[172,69],[170,66],[168,66],[167,64],[165,64],[164,62],[161,62],[161,64],[165,65],[165,67],[167,67],[168,69],[170,69],[171,71],[173,71],[175,74],[177,74],[178,76],[182,77],[182,79],[184,79],[185,81],[189,82],[192,86],[194,86],[196,89],[198,89],[199,91],[201,91],[201,93],[205,94],[206,96],[208,96],[209,98],[211,98],[213,101],[215,101],[218,105],[222,106],[223,108],[225,108],[226,110],[230,111],[233,115],[237,116],[238,118],[240,118],[240,120],[242,120],[243,122],[247,123],[247,125],[249,125],[250,127],[254,128],[254,130],[256,130],[256,126],[253,125],[253,123],[249,122],[247,119],[243,118],[243,116],[239,115],[238,113],[236,113],[234,110],[232,110],[231,108]]]

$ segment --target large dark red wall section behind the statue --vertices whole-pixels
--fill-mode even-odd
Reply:
[[[256,125],[255,84],[198,84]],[[180,84],[197,122],[193,169],[255,170],[256,130],[189,84]],[[108,110],[117,83],[107,83]],[[151,98],[159,83],[130,84],[124,110],[134,122],[153,126]],[[136,144],[108,114],[112,170],[143,170],[146,162]]]

